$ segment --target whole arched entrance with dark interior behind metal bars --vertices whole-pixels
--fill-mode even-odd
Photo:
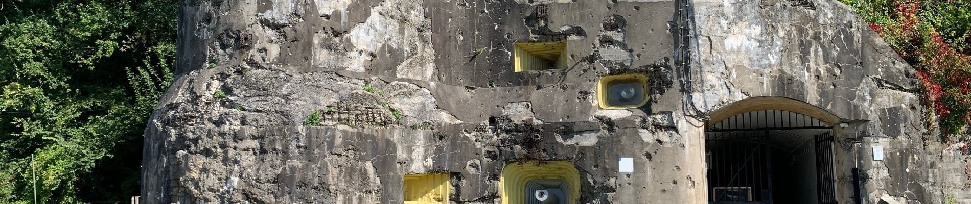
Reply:
[[[833,124],[787,110],[745,110],[706,127],[708,201],[836,203]]]

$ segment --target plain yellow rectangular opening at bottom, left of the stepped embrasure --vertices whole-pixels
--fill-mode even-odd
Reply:
[[[451,183],[449,174],[405,175],[405,204],[448,204]]]

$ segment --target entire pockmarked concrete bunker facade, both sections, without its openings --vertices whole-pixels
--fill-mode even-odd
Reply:
[[[705,121],[688,115],[724,118],[746,108],[850,124],[834,129],[841,203],[850,202],[842,192],[852,192],[847,174],[857,165],[867,169],[868,203],[883,194],[971,199],[955,191],[967,184],[954,174],[966,157],[928,141],[934,134],[921,121],[913,69],[831,0],[812,8],[700,0],[182,4],[179,76],[146,130],[146,203],[400,203],[402,175],[429,172],[456,175],[455,203],[497,203],[502,168],[519,160],[574,162],[578,203],[705,203]],[[694,26],[678,18],[691,5]],[[689,47],[679,43],[682,25],[696,29],[688,74],[675,55]],[[513,72],[513,44],[559,40],[568,42],[567,70]],[[660,85],[653,102],[600,109],[596,82],[612,73],[652,75]],[[692,79],[687,97],[678,79]],[[686,100],[702,112],[686,111]],[[747,106],[759,102],[766,104]],[[385,107],[388,124],[304,124],[334,105]],[[885,146],[887,160],[861,157],[872,145]],[[620,157],[634,158],[635,171],[619,173]]]

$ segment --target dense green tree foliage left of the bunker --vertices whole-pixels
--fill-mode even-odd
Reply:
[[[139,194],[177,11],[176,0],[0,1],[0,203],[33,203],[31,166],[38,203]]]

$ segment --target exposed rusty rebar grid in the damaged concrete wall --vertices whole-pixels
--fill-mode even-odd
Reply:
[[[384,107],[373,106],[327,106],[321,114],[323,121],[349,123],[354,126],[387,126],[390,118],[385,115]]]

